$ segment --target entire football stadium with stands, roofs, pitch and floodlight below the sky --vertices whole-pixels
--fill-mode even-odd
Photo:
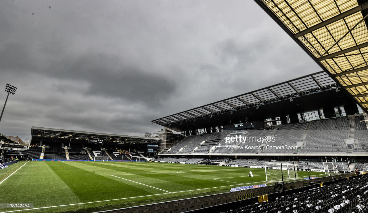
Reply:
[[[254,1],[321,71],[162,115],[145,136],[1,133],[0,212],[368,212],[368,1]]]

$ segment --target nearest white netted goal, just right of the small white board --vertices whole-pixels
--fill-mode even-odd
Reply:
[[[298,179],[298,171],[290,163],[266,163],[266,181],[277,182]]]

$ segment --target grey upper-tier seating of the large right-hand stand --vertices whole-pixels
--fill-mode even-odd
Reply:
[[[261,130],[241,130],[226,131],[226,133],[210,133],[205,135],[191,135],[183,138],[171,147],[170,151],[163,154],[258,154],[258,153],[284,153],[284,152],[343,152],[346,153],[348,147],[344,144],[349,138],[350,122],[355,119],[354,138],[357,141],[354,152],[366,152],[368,142],[368,130],[363,116],[337,117],[321,120],[308,121],[307,123],[282,124],[275,127],[267,127]],[[308,128],[307,126],[310,125]],[[354,126],[354,125],[353,125]],[[263,144],[259,141],[254,142],[230,142],[225,143],[225,137],[232,134],[241,134],[248,137],[275,136],[276,141],[269,141]],[[303,134],[306,134],[303,137]],[[350,135],[351,137],[351,135]],[[201,142],[205,141],[202,145]],[[296,146],[297,142],[304,142],[299,150],[277,150],[266,149],[269,146]],[[261,147],[261,149],[245,149],[248,147]],[[215,146],[214,150],[211,148]],[[229,148],[231,146],[231,148]],[[197,150],[193,151],[195,147]],[[235,148],[232,148],[235,147]],[[183,150],[181,150],[183,148]],[[181,150],[179,152],[179,150]]]

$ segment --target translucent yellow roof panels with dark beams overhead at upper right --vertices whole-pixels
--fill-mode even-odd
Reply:
[[[255,2],[367,112],[368,0]]]

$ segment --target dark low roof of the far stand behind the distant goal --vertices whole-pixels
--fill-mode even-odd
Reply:
[[[74,130],[62,130],[54,128],[44,128],[44,127],[32,127],[31,130],[31,141],[37,140],[36,138],[48,138],[48,140],[59,140],[59,141],[82,141],[88,140],[89,138],[94,139],[104,139],[107,142],[134,142],[134,143],[154,143],[158,142],[158,138],[147,138],[129,135],[117,135],[117,134],[107,134],[107,133],[91,133],[85,131],[74,131]]]

